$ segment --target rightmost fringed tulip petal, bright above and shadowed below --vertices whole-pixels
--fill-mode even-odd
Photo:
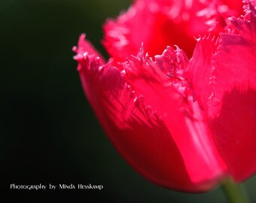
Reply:
[[[240,35],[221,35],[215,58],[209,122],[230,174],[245,180],[256,172],[256,18],[233,18]]]

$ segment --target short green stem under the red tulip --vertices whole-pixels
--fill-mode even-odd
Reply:
[[[221,185],[229,203],[249,203],[248,195],[242,184],[236,184],[232,179],[224,180]]]

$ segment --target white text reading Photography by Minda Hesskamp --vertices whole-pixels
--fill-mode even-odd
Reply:
[[[17,189],[17,190],[55,190],[55,189],[98,189],[102,190],[104,188],[101,184],[84,184],[84,183],[59,183],[59,184],[16,184],[11,183],[10,189]]]

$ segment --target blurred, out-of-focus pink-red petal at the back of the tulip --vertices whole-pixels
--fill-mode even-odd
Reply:
[[[117,61],[136,55],[142,41],[150,56],[161,54],[167,45],[178,44],[188,56],[194,50],[194,35],[206,33],[209,25],[197,12],[206,8],[198,1],[147,0],[136,1],[117,20],[104,26],[106,50]],[[156,43],[157,42],[157,43]]]

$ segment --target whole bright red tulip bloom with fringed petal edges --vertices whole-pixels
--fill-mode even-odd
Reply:
[[[108,62],[85,35],[74,49],[108,138],[160,186],[204,192],[256,171],[255,2],[241,12],[235,0],[138,0],[105,24]]]

